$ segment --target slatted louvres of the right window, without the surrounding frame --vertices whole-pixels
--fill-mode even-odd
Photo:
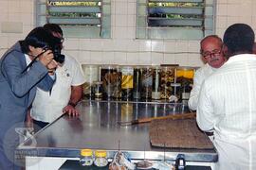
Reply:
[[[203,0],[149,0],[148,26],[204,27]]]

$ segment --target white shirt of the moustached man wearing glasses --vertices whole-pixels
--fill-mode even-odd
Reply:
[[[193,76],[193,84],[192,84],[192,91],[190,94],[189,99],[189,108],[191,110],[196,110],[197,103],[198,103],[198,96],[200,93],[200,88],[203,83],[203,81],[210,76],[213,72],[215,72],[217,69],[210,67],[210,65],[207,63],[203,67],[196,70],[194,76]]]

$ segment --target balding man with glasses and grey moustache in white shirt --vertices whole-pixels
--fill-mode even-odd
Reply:
[[[206,64],[198,69],[193,77],[192,92],[189,99],[189,108],[196,110],[198,103],[198,95],[201,85],[205,78],[210,76],[226,61],[222,53],[222,40],[216,35],[210,35],[200,42],[201,56]]]

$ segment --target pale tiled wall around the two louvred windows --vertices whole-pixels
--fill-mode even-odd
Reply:
[[[214,0],[213,0],[214,1]],[[0,0],[0,55],[35,26],[35,0]],[[136,40],[136,0],[112,0],[112,39],[66,39],[66,54],[81,63],[201,66],[199,41]],[[255,0],[217,0],[216,34],[234,23],[256,29]]]

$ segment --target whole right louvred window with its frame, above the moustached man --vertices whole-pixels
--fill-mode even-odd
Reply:
[[[147,0],[146,11],[142,2],[137,0],[138,39],[199,40],[206,27],[213,32],[212,0]]]

